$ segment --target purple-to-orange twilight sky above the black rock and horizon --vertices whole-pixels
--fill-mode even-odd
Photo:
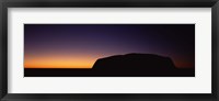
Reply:
[[[25,68],[91,68],[128,53],[171,57],[195,67],[195,24],[24,24]]]

